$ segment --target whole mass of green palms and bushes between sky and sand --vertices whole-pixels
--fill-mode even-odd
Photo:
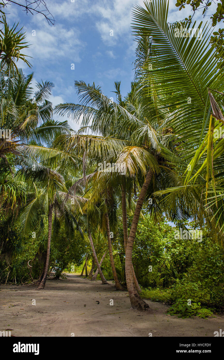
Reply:
[[[3,10],[0,283],[44,289],[49,273],[77,271],[127,288],[135,309],[150,298],[185,317],[222,310],[224,84],[212,30],[176,36],[196,23],[167,23],[165,0],[135,6],[130,93],[115,82],[113,101],[75,81],[80,102],[53,109],[54,84],[34,92],[33,73],[17,68],[30,66],[28,44]]]

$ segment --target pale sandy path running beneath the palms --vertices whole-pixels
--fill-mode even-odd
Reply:
[[[213,337],[224,329],[224,316],[178,319],[166,314],[166,305],[147,302],[152,312],[138,312],[130,309],[127,292],[117,292],[111,282],[101,285],[71,274],[66,280],[48,280],[44,291],[5,285],[0,286],[0,330],[13,329],[14,336]]]

